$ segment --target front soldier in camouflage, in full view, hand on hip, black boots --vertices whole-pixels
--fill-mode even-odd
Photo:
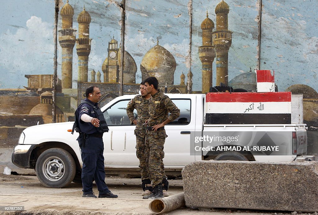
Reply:
[[[149,119],[146,120],[146,142],[145,156],[146,165],[149,172],[153,191],[150,195],[144,196],[144,199],[163,198],[162,176],[164,173],[163,165],[163,145],[168,137],[164,125],[175,120],[180,115],[180,110],[164,95],[158,91],[158,80],[155,77],[149,77],[145,81],[145,89],[151,94],[149,106]],[[170,116],[168,117],[168,113]]]

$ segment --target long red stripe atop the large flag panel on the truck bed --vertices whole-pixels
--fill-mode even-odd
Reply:
[[[291,92],[210,92],[206,102],[291,102]]]

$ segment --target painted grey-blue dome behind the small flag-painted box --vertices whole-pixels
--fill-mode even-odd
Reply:
[[[229,86],[233,89],[241,88],[248,92],[256,92],[256,73],[255,72],[244,72],[232,78],[229,81]]]

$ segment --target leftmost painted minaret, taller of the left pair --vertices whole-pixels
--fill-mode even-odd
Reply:
[[[73,48],[75,44],[75,32],[73,29],[74,9],[66,1],[62,7],[62,29],[59,30],[59,43],[62,47],[62,88],[72,88],[73,73]]]

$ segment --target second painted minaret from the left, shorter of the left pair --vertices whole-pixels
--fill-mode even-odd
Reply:
[[[89,38],[89,24],[91,16],[85,10],[77,17],[79,23],[79,38],[76,39],[76,51],[79,56],[78,82],[87,82],[88,77],[88,56],[91,52],[91,38]]]

